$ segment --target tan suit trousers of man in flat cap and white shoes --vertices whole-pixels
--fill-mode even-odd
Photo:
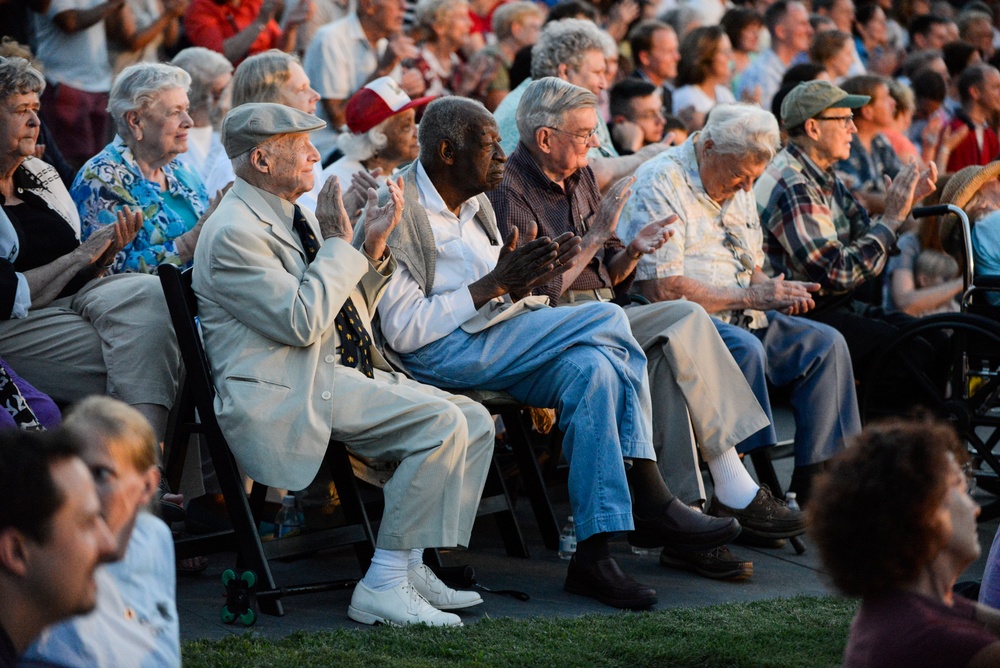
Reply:
[[[375,370],[374,380],[338,365],[332,438],[353,452],[399,461],[383,488],[377,545],[387,550],[467,546],[493,457],[493,420],[481,405]],[[357,397],[370,397],[368,409]]]

